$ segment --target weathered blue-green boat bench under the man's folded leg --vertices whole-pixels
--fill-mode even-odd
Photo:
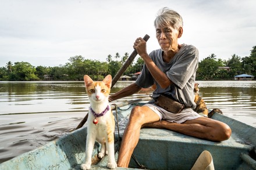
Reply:
[[[212,154],[215,169],[236,169],[253,146],[236,142],[232,136],[224,142],[195,139],[164,129],[141,129],[140,140],[134,150],[138,162],[150,169],[190,169],[202,151]],[[133,161],[130,167],[136,167]]]

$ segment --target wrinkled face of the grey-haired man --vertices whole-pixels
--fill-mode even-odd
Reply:
[[[178,36],[179,31],[172,26],[157,26],[156,28],[156,37],[164,52],[169,50],[175,51],[177,49]]]

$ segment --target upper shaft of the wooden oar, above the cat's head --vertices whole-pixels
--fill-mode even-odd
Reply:
[[[143,39],[147,42],[150,36],[146,34]],[[126,60],[125,64],[120,68],[118,73],[116,73],[115,77],[112,79],[112,86],[111,88],[116,84],[118,79],[121,77],[121,75],[125,72],[125,70],[130,66],[131,62],[133,62],[134,58],[137,56],[137,50],[134,49],[129,58]]]

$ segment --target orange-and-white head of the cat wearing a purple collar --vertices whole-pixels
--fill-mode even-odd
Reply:
[[[84,75],[86,92],[91,102],[102,102],[108,100],[111,90],[111,75],[107,75],[102,81],[93,81],[88,75]]]

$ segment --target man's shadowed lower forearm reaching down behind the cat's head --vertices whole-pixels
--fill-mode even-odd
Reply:
[[[136,85],[135,83],[127,86],[126,88],[122,89],[119,92],[116,92],[115,94],[108,97],[109,102],[112,102],[113,100],[118,100],[123,97],[127,97],[130,95],[133,95],[134,93],[137,93],[140,91],[141,87]]]

